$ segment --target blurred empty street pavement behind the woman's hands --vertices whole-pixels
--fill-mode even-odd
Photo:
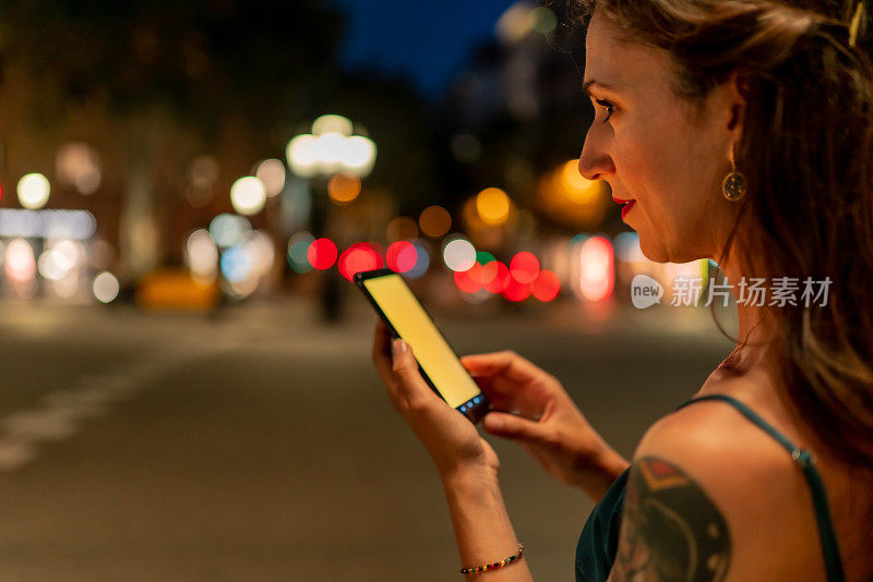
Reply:
[[[4,304],[0,580],[457,578],[436,472],[355,299],[335,327],[300,298],[214,318]],[[731,348],[707,310],[434,315],[462,354],[513,349],[555,374],[625,456]],[[487,438],[534,575],[570,580],[591,504]]]

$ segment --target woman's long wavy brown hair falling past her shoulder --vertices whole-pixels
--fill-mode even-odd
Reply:
[[[737,149],[748,192],[720,260],[734,250],[746,276],[830,279],[824,306],[766,306],[777,373],[826,449],[873,470],[873,65],[864,22],[850,46],[856,5],[575,2],[583,24],[598,11],[627,40],[669,51],[679,97],[699,102],[734,71],[748,82]]]

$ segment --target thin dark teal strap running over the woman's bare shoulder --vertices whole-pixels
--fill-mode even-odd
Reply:
[[[827,572],[827,582],[844,582],[845,574],[842,571],[842,560],[839,555],[839,545],[837,544],[837,536],[834,532],[834,524],[830,520],[830,510],[827,506],[827,495],[825,494],[825,484],[822,475],[815,469],[815,457],[806,449],[794,446],[788,437],[776,429],[770,423],[761,417],[755,411],[750,409],[743,402],[740,402],[733,397],[727,395],[706,395],[697,398],[692,398],[677,407],[680,410],[694,402],[705,400],[720,400],[727,402],[737,409],[743,416],[752,421],[758,428],[767,433],[779,445],[782,446],[790,454],[791,459],[798,464],[806,478],[812,493],[812,502],[815,508],[815,521],[818,525],[818,537],[822,542],[822,554],[825,561],[825,570]]]

